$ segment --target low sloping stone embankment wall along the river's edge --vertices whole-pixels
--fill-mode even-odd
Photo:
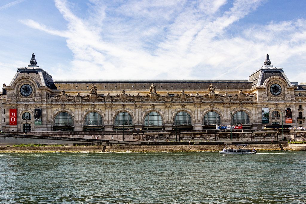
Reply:
[[[234,149],[234,145],[229,145]],[[104,150],[103,150],[104,147]],[[248,145],[248,149],[258,151],[290,150],[288,144]],[[161,151],[220,151],[223,145],[176,145],[176,146],[63,146],[63,147],[0,147],[0,153],[17,152],[161,152]]]

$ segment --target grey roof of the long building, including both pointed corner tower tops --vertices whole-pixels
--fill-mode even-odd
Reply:
[[[290,83],[287,76],[283,72],[282,68],[276,68],[271,65],[270,57],[267,54],[265,66],[261,67],[257,72],[254,72],[249,76],[248,80],[55,80],[53,81],[52,76],[45,72],[43,69],[36,65],[34,53],[30,60],[28,67],[18,68],[16,75],[11,86],[17,77],[32,76],[38,81],[40,86],[49,87],[51,89],[59,90],[86,90],[90,89],[92,84],[95,84],[98,90],[147,90],[153,83],[156,89],[163,90],[177,90],[177,89],[207,89],[210,84],[215,85],[216,89],[252,89],[256,86],[262,86],[264,81],[269,77],[278,76],[283,78],[289,86],[293,86]],[[37,77],[37,75],[39,77]]]

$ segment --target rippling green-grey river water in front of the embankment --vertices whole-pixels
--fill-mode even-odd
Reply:
[[[0,203],[306,203],[306,152],[0,154]]]

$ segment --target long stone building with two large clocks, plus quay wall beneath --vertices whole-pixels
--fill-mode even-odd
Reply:
[[[303,141],[306,132],[306,83],[291,83],[268,54],[247,80],[53,80],[34,53],[30,65],[11,77],[0,92],[0,126],[7,133]]]

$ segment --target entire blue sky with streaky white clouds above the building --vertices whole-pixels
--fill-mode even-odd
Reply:
[[[37,65],[53,80],[247,80],[268,53],[306,82],[305,0],[2,0],[0,83]]]

